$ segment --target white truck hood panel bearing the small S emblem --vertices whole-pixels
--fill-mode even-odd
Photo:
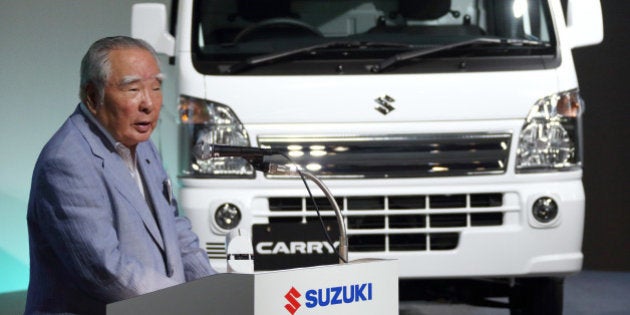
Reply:
[[[557,92],[555,70],[410,75],[207,76],[211,101],[247,124],[524,118]],[[377,110],[378,99],[393,110]]]

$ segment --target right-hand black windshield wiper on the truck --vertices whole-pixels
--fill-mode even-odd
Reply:
[[[411,50],[403,53],[399,53],[393,55],[380,63],[374,65],[371,69],[372,72],[378,73],[383,70],[398,64],[400,62],[404,62],[410,59],[434,54],[437,52],[448,51],[455,48],[460,48],[469,45],[493,45],[493,46],[538,46],[538,47],[548,47],[550,44],[542,41],[535,41],[529,39],[514,39],[514,38],[493,38],[493,37],[477,37],[461,42],[455,42],[448,45],[437,46],[428,49],[419,49],[419,50]]]

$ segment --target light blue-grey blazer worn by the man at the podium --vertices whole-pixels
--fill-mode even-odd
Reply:
[[[28,203],[26,314],[103,314],[107,303],[214,273],[155,146],[140,143],[136,154],[155,214],[79,107],[46,144]]]

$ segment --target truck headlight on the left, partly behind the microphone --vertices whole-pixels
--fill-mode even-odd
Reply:
[[[249,146],[247,130],[232,109],[216,102],[181,96],[180,162],[184,176],[252,178],[254,168],[240,157],[198,160],[192,154],[196,143]]]

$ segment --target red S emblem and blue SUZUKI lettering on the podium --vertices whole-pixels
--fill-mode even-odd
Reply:
[[[304,294],[304,306],[306,306],[307,309],[313,309],[339,304],[372,301],[372,286],[373,284],[371,282],[367,282],[306,290]],[[302,294],[295,287],[291,287],[291,290],[284,295],[284,298],[289,302],[284,308],[289,311],[291,315],[294,315],[302,306],[298,300],[301,296]]]

